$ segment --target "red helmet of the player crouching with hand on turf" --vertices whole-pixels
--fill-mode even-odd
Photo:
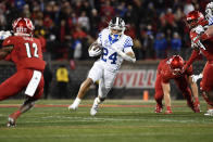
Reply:
[[[174,74],[181,74],[184,70],[184,60],[179,55],[173,55],[170,60],[170,67]]]

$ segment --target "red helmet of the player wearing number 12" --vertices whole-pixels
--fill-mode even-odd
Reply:
[[[26,17],[18,17],[12,24],[14,35],[18,36],[33,36],[35,29],[33,22]]]

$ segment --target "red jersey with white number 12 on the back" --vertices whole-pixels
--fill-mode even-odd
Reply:
[[[2,46],[13,46],[13,50],[7,55],[7,61],[12,61],[18,69],[45,69],[40,41],[33,37],[11,36]]]

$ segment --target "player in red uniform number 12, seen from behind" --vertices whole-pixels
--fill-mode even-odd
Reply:
[[[34,25],[29,18],[20,17],[12,24],[14,36],[5,38],[0,59],[11,61],[16,73],[0,85],[0,101],[25,91],[26,101],[9,116],[8,127],[14,127],[16,118],[32,108],[43,92],[45,61],[40,41],[33,37]]]

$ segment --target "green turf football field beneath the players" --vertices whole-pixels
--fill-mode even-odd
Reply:
[[[204,102],[195,114],[186,101],[172,101],[174,114],[164,115],[153,113],[153,101],[106,100],[92,117],[92,101],[68,112],[71,101],[41,100],[16,128],[7,128],[8,115],[22,102],[0,102],[0,142],[213,142],[213,117],[203,116]]]

